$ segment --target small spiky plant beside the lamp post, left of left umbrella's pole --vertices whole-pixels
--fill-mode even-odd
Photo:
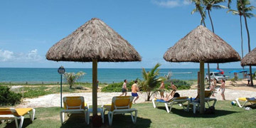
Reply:
[[[71,88],[72,85],[74,85],[75,81],[82,78],[82,76],[85,74],[86,73],[83,73],[82,71],[80,71],[76,74],[75,73],[64,73],[64,78],[65,78],[65,80],[67,80],[68,85],[70,85],[70,88]]]

